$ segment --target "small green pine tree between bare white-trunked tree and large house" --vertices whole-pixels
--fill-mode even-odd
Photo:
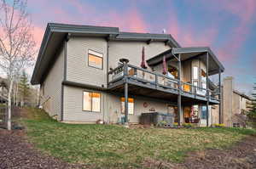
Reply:
[[[28,83],[28,78],[25,70],[22,71],[22,75],[20,76],[20,101],[21,106],[23,107],[25,101],[28,99],[30,95],[30,85]]]

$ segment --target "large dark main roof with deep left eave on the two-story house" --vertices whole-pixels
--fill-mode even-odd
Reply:
[[[44,33],[44,39],[38,53],[38,59],[32,74],[31,83],[39,84],[54,59],[54,54],[61,42],[68,34],[74,36],[106,37],[110,41],[143,41],[166,42],[171,47],[180,48],[180,45],[170,34],[131,33],[119,31],[118,27],[93,25],[67,25],[49,23]]]

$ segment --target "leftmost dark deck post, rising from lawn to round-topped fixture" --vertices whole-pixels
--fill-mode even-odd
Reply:
[[[125,123],[128,124],[128,62],[129,59],[119,59],[121,63],[124,65],[124,77],[125,77]]]

